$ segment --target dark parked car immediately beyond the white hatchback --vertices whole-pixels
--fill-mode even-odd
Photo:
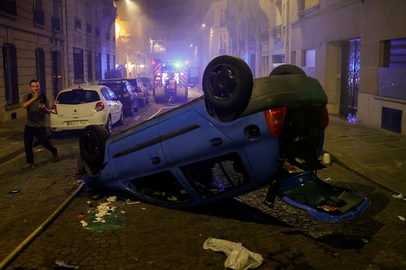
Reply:
[[[126,79],[100,80],[99,85],[107,86],[114,92],[127,116],[131,117],[134,111],[138,111],[138,95]]]

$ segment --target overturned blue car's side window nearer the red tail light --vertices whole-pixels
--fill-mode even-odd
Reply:
[[[222,194],[249,182],[249,175],[238,153],[229,153],[180,169],[203,198]]]

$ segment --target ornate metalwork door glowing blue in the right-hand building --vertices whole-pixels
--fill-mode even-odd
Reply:
[[[358,109],[361,40],[343,42],[342,50],[340,115],[355,123]]]

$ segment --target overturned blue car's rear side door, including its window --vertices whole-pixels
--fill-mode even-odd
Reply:
[[[196,204],[256,182],[241,146],[194,110],[160,123],[159,135],[166,160]]]

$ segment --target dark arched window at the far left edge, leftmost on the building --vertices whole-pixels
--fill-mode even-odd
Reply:
[[[17,50],[12,44],[3,46],[3,68],[6,105],[18,103]]]

